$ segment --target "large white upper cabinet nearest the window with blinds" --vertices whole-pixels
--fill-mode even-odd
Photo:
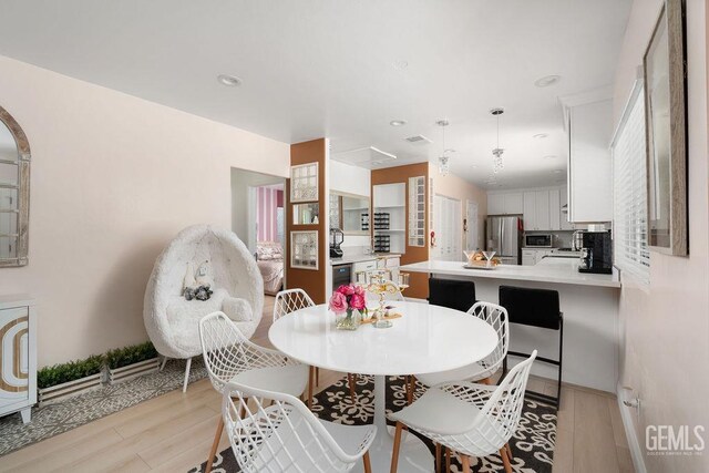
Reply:
[[[568,216],[571,222],[610,222],[613,102],[568,107]]]

